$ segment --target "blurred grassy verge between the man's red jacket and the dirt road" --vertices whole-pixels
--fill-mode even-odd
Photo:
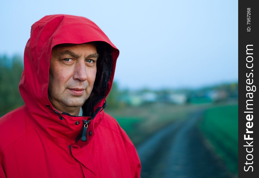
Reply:
[[[182,106],[157,103],[138,107],[106,109],[105,112],[118,121],[134,145],[138,146],[166,125],[179,119],[186,119],[191,112],[209,106],[211,104]]]

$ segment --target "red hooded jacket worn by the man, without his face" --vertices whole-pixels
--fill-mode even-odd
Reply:
[[[92,41],[106,42],[110,51],[97,66],[93,91],[82,106],[85,116],[55,111],[47,93],[52,48]],[[140,177],[134,145],[103,110],[118,54],[86,18],[49,15],[32,25],[19,85],[25,105],[0,118],[0,177]]]

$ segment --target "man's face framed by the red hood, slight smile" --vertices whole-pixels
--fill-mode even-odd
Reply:
[[[89,98],[98,56],[91,43],[66,44],[52,49],[48,96],[56,109],[69,112],[81,107]]]

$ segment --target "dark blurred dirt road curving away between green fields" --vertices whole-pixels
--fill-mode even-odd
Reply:
[[[196,128],[204,110],[161,129],[137,147],[142,178],[228,178],[222,161]]]

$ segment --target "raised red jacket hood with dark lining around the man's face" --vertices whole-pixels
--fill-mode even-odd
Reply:
[[[56,111],[48,98],[49,67],[52,48],[59,44],[98,42],[96,80],[90,97],[82,106],[83,116],[71,116]],[[24,51],[24,71],[19,84],[29,116],[47,136],[58,142],[75,142],[82,127],[79,121],[89,120],[96,129],[101,120],[100,110],[105,106],[114,77],[118,49],[91,20],[73,15],[47,15],[34,23]],[[93,133],[94,134],[94,133]],[[89,140],[88,140],[89,141]]]

